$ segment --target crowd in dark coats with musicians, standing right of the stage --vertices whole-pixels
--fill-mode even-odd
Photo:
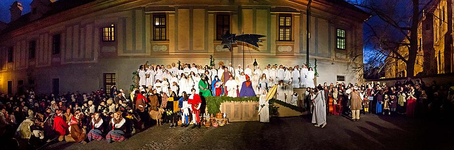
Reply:
[[[307,88],[304,106],[313,114],[315,126],[326,125],[326,115],[344,115],[358,121],[360,114],[394,115],[409,117],[454,115],[454,86],[452,83],[431,85],[408,78],[394,85],[370,82],[348,85],[324,83]]]

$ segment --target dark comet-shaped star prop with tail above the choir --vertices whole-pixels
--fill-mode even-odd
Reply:
[[[232,44],[236,44],[237,42],[243,42],[255,47],[259,47],[257,42],[262,42],[259,38],[265,37],[264,35],[258,34],[243,34],[243,35],[236,35],[231,34],[229,31],[221,36],[223,48],[232,48]]]

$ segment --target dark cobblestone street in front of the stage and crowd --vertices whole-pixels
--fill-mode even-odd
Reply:
[[[363,115],[358,122],[328,116],[325,128],[311,117],[272,118],[271,123],[232,122],[201,129],[151,127],[127,141],[59,142],[45,149],[452,149],[452,124],[404,116]],[[423,123],[428,122],[428,123]],[[429,123],[430,122],[430,123]]]

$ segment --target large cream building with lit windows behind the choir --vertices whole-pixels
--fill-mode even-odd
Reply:
[[[265,35],[256,49],[233,48],[233,64],[254,59],[266,64],[306,62],[307,1],[187,0],[94,1],[35,0],[31,13],[11,6],[12,22],[0,35],[0,92],[35,88],[42,93],[88,92],[116,85],[126,91],[132,72],[153,64],[231,62],[220,35]],[[344,1],[314,0],[310,61],[323,84],[352,82],[351,55],[360,55],[362,24],[368,14]],[[19,16],[17,16],[19,14]]]

